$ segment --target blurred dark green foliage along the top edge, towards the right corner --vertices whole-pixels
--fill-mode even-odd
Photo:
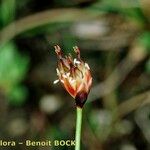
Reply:
[[[91,6],[92,10],[98,10],[104,13],[118,13],[133,21],[142,24],[145,23],[145,17],[141,10],[140,4],[135,1],[120,0],[102,0]]]

